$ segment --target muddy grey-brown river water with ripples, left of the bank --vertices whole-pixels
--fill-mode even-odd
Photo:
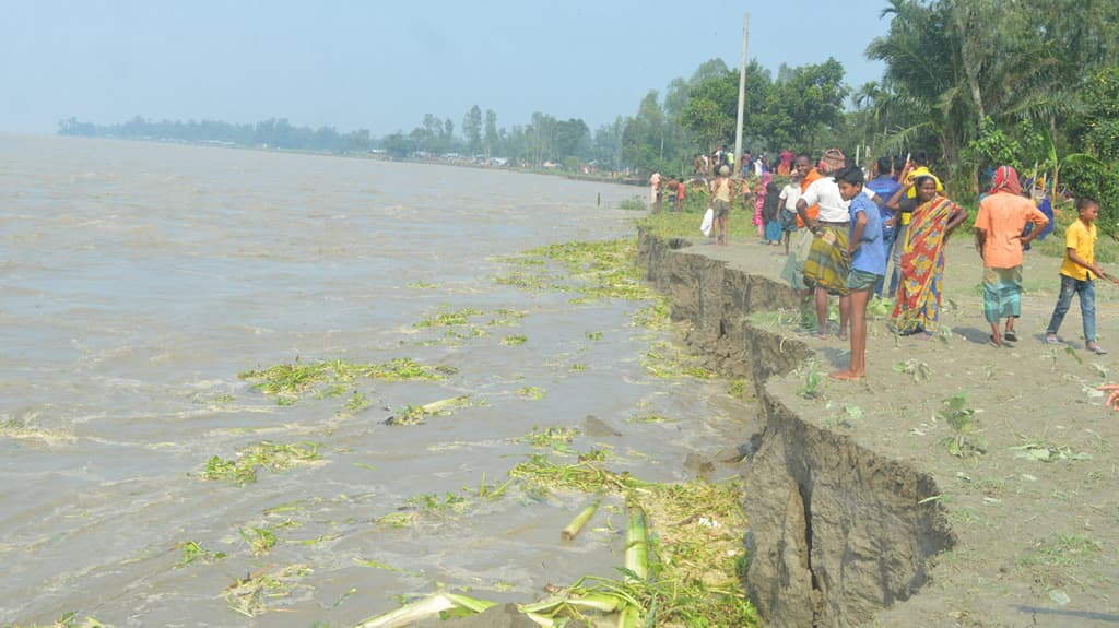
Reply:
[[[0,136],[0,624],[351,626],[440,584],[532,600],[613,575],[624,515],[562,544],[585,496],[479,498],[539,451],[526,434],[579,428],[572,449],[649,480],[742,441],[727,382],[647,372],[675,336],[632,324],[645,304],[493,280],[502,255],[631,237],[618,201],[634,188],[110,140]],[[463,308],[518,315],[470,337],[416,326]],[[291,405],[237,377],[399,358],[452,374]],[[319,459],[243,486],[200,477],[262,441]],[[252,607],[267,612],[234,608],[238,579],[286,568]]]

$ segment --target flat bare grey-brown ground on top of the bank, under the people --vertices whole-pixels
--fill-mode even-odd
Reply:
[[[783,248],[753,239],[694,244],[751,273],[777,276],[784,263]],[[824,377],[810,398],[809,373],[845,368],[847,343],[810,337],[794,316],[759,321],[817,355],[771,380],[771,391],[801,417],[929,473],[941,489],[959,542],[935,561],[932,583],[876,626],[1119,626],[1119,412],[1094,390],[1119,381],[1119,288],[1097,283],[1099,339],[1111,353],[1084,350],[1075,299],[1061,329],[1068,343],[1045,344],[1060,264],[1026,255],[1019,341],[995,349],[980,260],[961,235],[947,253],[942,333],[896,337],[887,317],[871,321],[868,377]]]

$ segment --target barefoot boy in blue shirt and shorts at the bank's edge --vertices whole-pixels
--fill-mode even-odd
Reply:
[[[866,374],[866,303],[874,286],[886,275],[886,253],[882,245],[882,217],[878,206],[863,193],[863,170],[849,165],[835,173],[839,196],[850,203],[850,227],[847,239],[847,259],[850,273],[847,289],[850,292],[850,365],[829,377],[837,380],[857,380]]]

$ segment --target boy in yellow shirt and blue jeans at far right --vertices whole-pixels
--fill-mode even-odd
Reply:
[[[1061,295],[1053,308],[1045,330],[1045,342],[1061,344],[1056,332],[1072,304],[1072,295],[1080,295],[1080,316],[1084,320],[1084,349],[1097,355],[1107,351],[1096,342],[1096,286],[1093,277],[1103,277],[1119,284],[1096,264],[1096,218],[1100,206],[1089,198],[1076,199],[1078,219],[1064,230],[1064,264],[1061,265]]]

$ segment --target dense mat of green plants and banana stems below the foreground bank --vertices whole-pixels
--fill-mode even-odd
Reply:
[[[534,428],[526,439],[547,446],[553,438],[563,440],[571,434]],[[462,493],[417,495],[402,511],[379,521],[412,526],[425,517],[454,520],[468,515],[476,499],[499,497],[513,484],[529,495],[591,497],[591,504],[560,530],[563,542],[576,543],[580,531],[594,521],[603,499],[609,498],[626,504],[629,512],[626,560],[618,567],[618,578],[587,577],[570,587],[553,588],[543,600],[517,605],[520,612],[544,626],[574,620],[599,625],[596,621],[613,617],[617,620],[611,621],[619,626],[758,626],[756,612],[740,584],[746,522],[739,504],[739,480],[650,483],[606,468],[609,459],[610,455],[600,449],[534,454],[510,469],[509,479],[497,491],[464,488]],[[618,508],[611,505],[606,510]],[[406,626],[449,610],[452,615],[469,615],[492,605],[440,591],[358,626]]]

